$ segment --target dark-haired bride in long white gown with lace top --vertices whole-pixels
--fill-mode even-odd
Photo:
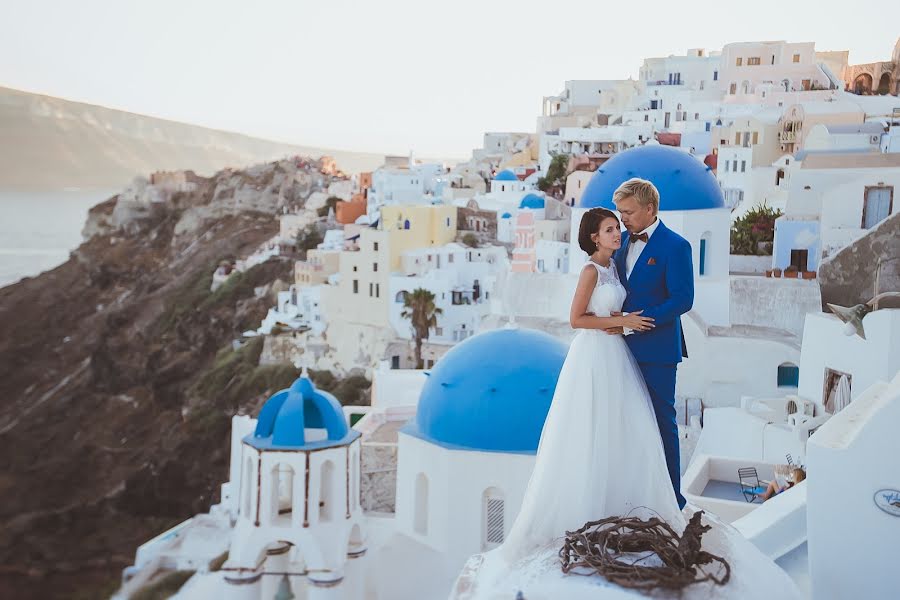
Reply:
[[[684,517],[672,490],[647,387],[623,328],[647,331],[653,319],[618,313],[625,300],[612,254],[622,243],[614,213],[585,213],[578,243],[590,256],[572,299],[580,330],[569,347],[519,515],[501,552],[521,558],[561,544],[587,521],[657,515],[676,531]]]

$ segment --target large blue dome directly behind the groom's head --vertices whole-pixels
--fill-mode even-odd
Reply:
[[[580,206],[615,210],[613,192],[632,177],[653,182],[659,190],[661,211],[725,206],[712,170],[690,154],[670,146],[641,146],[615,155],[591,177]]]

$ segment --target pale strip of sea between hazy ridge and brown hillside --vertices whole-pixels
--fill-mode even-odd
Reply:
[[[0,287],[68,260],[81,244],[88,210],[114,193],[0,189]]]

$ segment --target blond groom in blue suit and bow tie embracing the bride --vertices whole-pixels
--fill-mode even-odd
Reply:
[[[678,506],[681,494],[681,456],[675,422],[675,371],[687,356],[681,315],[694,303],[691,244],[659,220],[659,192],[644,179],[629,179],[613,194],[613,203],[628,230],[613,259],[628,290],[622,310],[643,310],[654,319],[649,331],[626,332],[625,340],[647,383],[656,424],[666,452],[669,477]]]

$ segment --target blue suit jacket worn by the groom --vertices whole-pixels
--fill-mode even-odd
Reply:
[[[628,239],[628,232],[623,233],[622,247],[613,256],[628,291],[622,310],[643,310],[642,316],[654,318],[656,327],[625,336],[625,341],[639,363],[679,363],[682,356],[687,356],[681,315],[694,304],[691,244],[660,221],[631,277],[626,277]]]

